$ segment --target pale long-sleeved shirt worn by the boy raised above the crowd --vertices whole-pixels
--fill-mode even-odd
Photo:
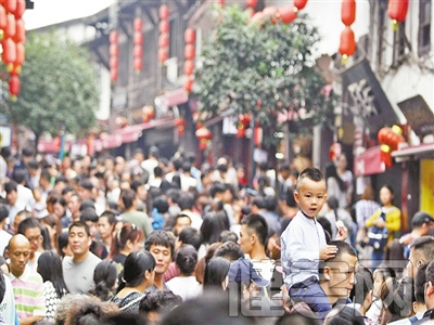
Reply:
[[[282,233],[281,261],[288,288],[318,275],[319,250],[327,245],[324,230],[316,219],[298,211]]]

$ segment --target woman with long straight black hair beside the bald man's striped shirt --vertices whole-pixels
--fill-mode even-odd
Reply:
[[[46,320],[54,322],[59,301],[68,292],[63,280],[62,260],[53,250],[46,250],[38,259],[38,273],[43,280]]]

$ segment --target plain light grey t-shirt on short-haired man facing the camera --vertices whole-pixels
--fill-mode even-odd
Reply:
[[[94,287],[93,271],[101,259],[89,251],[87,258],[79,263],[65,256],[62,261],[63,277],[71,294],[87,294]]]

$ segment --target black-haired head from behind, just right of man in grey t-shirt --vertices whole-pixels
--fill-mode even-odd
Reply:
[[[117,284],[117,265],[115,261],[102,260],[93,271],[94,288],[89,294],[107,301],[113,296]]]

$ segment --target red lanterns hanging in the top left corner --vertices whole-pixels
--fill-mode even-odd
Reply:
[[[23,14],[25,0],[0,1],[1,60],[9,73],[9,92],[12,100],[20,93],[20,74],[25,61],[26,29]]]

